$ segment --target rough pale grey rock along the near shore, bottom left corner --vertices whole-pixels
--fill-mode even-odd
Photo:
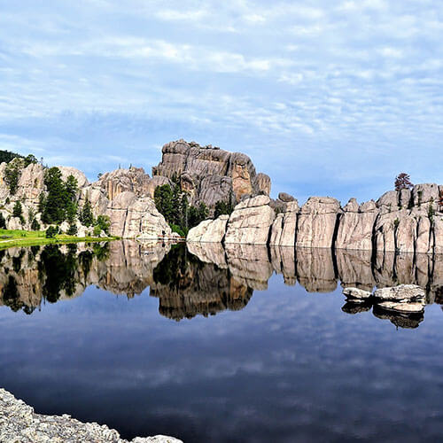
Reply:
[[[82,441],[84,443],[127,443],[119,432],[105,424],[82,423],[71,416],[42,416],[34,408],[0,389],[0,441],[4,443],[40,443]],[[133,443],[183,443],[182,440],[157,435],[136,437]]]

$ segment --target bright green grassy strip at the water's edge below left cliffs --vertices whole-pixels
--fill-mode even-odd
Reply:
[[[54,238],[46,238],[43,230],[0,229],[0,249],[12,246],[48,245],[51,243],[66,244],[78,242],[103,242],[115,240],[117,237],[75,237],[59,234]]]

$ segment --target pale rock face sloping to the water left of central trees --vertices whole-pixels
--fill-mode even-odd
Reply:
[[[134,192],[121,192],[111,201],[106,214],[111,221],[112,236],[158,238],[172,234],[152,198],[137,198]]]

